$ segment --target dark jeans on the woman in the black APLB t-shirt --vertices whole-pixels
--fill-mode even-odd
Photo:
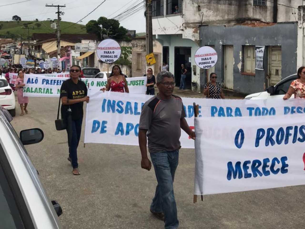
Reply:
[[[72,140],[69,147],[69,157],[72,161],[73,169],[78,168],[77,163],[77,147],[79,140],[81,138],[81,125],[83,123],[83,118],[78,120],[72,120]]]

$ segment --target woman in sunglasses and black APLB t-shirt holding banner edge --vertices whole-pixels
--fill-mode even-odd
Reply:
[[[81,138],[81,125],[83,122],[84,102],[89,102],[89,96],[87,96],[87,87],[80,78],[81,67],[78,65],[73,65],[70,68],[70,79],[63,82],[60,88],[60,97],[62,101],[61,106],[61,117],[66,119],[68,123],[68,109],[71,111],[72,118],[72,140],[69,146],[69,157],[68,161],[71,162],[73,167],[73,175],[80,175],[77,163],[77,146]],[[67,132],[68,132],[67,127]],[[69,133],[68,133],[69,136]]]

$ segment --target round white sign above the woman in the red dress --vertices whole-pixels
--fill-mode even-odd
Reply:
[[[121,56],[121,46],[113,39],[105,39],[96,47],[96,53],[105,63],[113,63]]]

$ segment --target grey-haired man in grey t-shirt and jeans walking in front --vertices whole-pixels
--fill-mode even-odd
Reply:
[[[181,148],[181,129],[195,139],[195,133],[185,120],[181,98],[172,94],[174,86],[174,76],[170,72],[161,71],[157,75],[159,94],[144,104],[139,123],[141,167],[151,169],[146,149],[147,134],[148,150],[158,181],[150,211],[164,220],[166,229],[179,226],[173,182]]]

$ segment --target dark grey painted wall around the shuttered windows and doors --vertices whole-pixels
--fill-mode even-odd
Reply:
[[[218,54],[215,72],[219,82],[224,82],[224,45],[233,45],[233,89],[246,94],[263,91],[268,75],[268,46],[282,47],[282,78],[297,71],[297,23],[282,23],[267,27],[236,25],[200,27],[201,46],[214,45]],[[242,75],[243,45],[265,46],[264,71],[255,76]],[[203,84],[203,81],[201,82]]]

